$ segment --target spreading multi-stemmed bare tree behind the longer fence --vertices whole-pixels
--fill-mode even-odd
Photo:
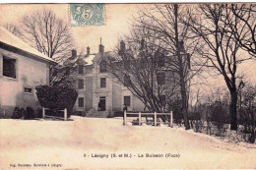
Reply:
[[[152,112],[168,111],[166,103],[177,93],[173,73],[164,71],[164,49],[147,28],[133,28],[108,56],[107,71],[125,85]],[[128,47],[127,47],[128,46]]]

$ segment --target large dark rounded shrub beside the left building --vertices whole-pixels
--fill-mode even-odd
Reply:
[[[70,117],[78,92],[69,85],[38,85],[35,87],[38,101],[42,107],[63,110],[67,108]],[[63,116],[63,112],[54,111],[54,114]]]

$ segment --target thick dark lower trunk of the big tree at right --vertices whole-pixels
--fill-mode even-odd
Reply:
[[[230,91],[231,103],[229,105],[230,130],[237,130],[237,92]]]

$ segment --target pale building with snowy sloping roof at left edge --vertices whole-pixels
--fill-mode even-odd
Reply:
[[[0,117],[10,118],[16,106],[38,106],[36,85],[49,84],[51,58],[0,27]]]

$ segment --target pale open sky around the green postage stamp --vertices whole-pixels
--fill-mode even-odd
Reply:
[[[136,4],[105,4],[105,26],[71,27],[76,46],[86,50],[91,47],[92,53],[98,50],[99,39],[105,51],[110,51],[118,43],[118,39],[129,30],[129,21],[140,5]],[[17,24],[25,15],[34,11],[51,9],[57,16],[69,24],[68,4],[1,4],[0,25]]]

